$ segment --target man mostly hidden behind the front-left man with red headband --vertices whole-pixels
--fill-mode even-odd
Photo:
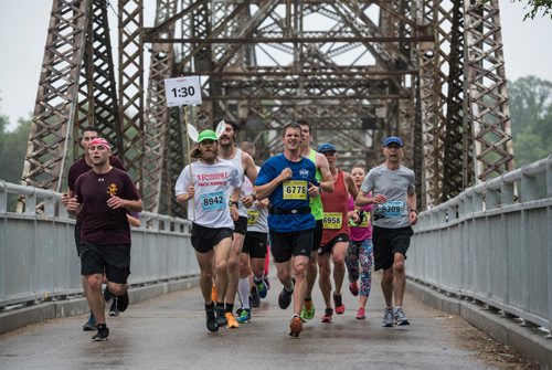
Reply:
[[[97,127],[83,127],[81,129],[83,133],[83,137],[81,138],[81,146],[84,148],[84,156],[78,159],[76,162],[74,162],[68,171],[67,176],[67,184],[68,184],[68,191],[66,194],[63,195],[62,198],[62,203],[63,205],[67,207],[67,202],[71,198],[75,195],[75,182],[76,179],[83,173],[88,172],[92,170],[92,159],[88,154],[88,144],[91,140],[97,138],[99,136],[99,130]],[[109,163],[113,167],[119,168],[124,171],[126,171],[125,167],[120,162],[120,160],[115,157],[115,156],[109,156]],[[75,245],[76,245],[76,254],[81,256],[81,222],[82,222],[82,214],[78,214],[76,218],[75,222]],[[86,279],[84,276],[82,276],[82,282],[83,282],[83,289],[86,295],[86,288],[88,284],[86,284]],[[118,316],[118,310],[117,310],[117,302],[116,299],[113,299],[112,307],[109,308],[109,315],[110,316]],[[83,330],[84,331],[93,331],[96,330],[96,320],[94,318],[94,314],[92,314],[86,320],[86,323],[83,325]]]

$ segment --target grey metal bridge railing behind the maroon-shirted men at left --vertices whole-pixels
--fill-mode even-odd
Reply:
[[[9,194],[24,198],[23,213],[8,210]],[[0,181],[0,310],[82,294],[75,221],[61,198],[54,191]],[[188,220],[141,212],[140,221],[140,228],[131,229],[129,284],[199,274]]]

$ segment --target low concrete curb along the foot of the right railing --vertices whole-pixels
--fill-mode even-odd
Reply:
[[[516,349],[542,369],[552,369],[552,339],[546,339],[537,328],[521,326],[520,321],[505,317],[499,311],[457,297],[449,297],[436,289],[408,279],[407,290],[436,309],[456,315],[488,334],[502,345]]]

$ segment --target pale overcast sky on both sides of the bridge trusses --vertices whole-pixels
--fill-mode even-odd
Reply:
[[[110,1],[116,7],[117,0]],[[552,81],[552,20],[523,22],[527,1],[511,1],[500,0],[507,78],[535,75]],[[151,25],[148,15],[152,17],[155,1],[146,0],[145,7],[152,9],[145,19]],[[8,129],[34,108],[51,11],[52,0],[0,0],[0,114],[10,119]]]

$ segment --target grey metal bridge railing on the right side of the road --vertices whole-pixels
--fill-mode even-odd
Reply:
[[[552,155],[422,212],[407,274],[552,330]]]

